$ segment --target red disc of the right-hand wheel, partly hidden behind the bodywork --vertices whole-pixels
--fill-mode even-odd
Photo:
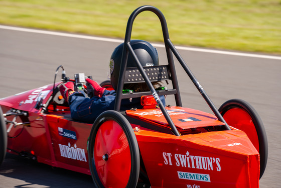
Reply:
[[[224,115],[226,123],[236,129],[244,131],[259,152],[258,136],[251,116],[241,108],[229,109]]]

